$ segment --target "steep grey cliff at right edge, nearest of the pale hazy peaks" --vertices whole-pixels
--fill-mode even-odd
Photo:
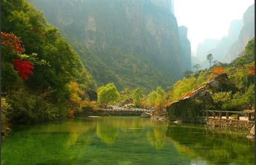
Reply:
[[[244,13],[243,27],[240,31],[239,38],[230,46],[229,51],[223,58],[224,62],[230,62],[237,58],[239,54],[244,50],[247,42],[254,37],[254,7],[255,5],[253,4]]]

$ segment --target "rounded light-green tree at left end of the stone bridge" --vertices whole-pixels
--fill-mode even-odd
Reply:
[[[117,101],[118,97],[119,93],[114,83],[106,84],[98,89],[98,103],[104,104],[104,108],[106,108],[109,103]]]

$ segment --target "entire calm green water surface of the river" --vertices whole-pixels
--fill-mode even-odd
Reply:
[[[80,117],[14,126],[3,164],[254,164],[243,132],[139,117]]]

